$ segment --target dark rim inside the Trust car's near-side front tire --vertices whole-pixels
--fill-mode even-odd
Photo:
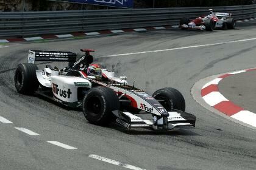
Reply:
[[[88,99],[87,110],[93,115],[99,115],[101,112],[101,100],[99,97],[93,96]]]

